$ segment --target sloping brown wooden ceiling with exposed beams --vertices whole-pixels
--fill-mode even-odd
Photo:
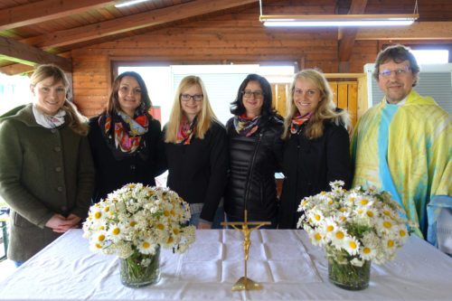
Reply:
[[[253,17],[259,18],[258,0],[150,0],[115,7],[122,1],[0,0],[0,72],[27,71],[28,66],[42,62],[54,62],[71,71],[73,49],[244,10],[255,10]],[[452,40],[452,0],[418,2],[419,24],[438,22],[446,39],[450,33],[448,38]],[[415,0],[292,0],[289,3],[308,3],[306,14],[411,14]],[[278,7],[278,0],[264,0],[263,4],[264,14],[269,6],[280,13],[291,13],[287,5]],[[411,31],[413,39],[417,33]],[[357,32],[347,30],[342,34],[339,56],[344,56],[342,59],[346,61],[350,52],[347,49],[353,47]]]

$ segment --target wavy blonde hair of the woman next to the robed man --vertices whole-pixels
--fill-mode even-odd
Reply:
[[[320,102],[315,108],[314,115],[309,118],[304,131],[305,136],[308,139],[315,139],[324,135],[324,122],[330,120],[336,125],[343,125],[344,127],[350,127],[350,118],[348,112],[345,110],[338,111],[333,102],[333,91],[325,79],[325,76],[313,69],[306,69],[299,71],[295,76],[292,84],[290,85],[290,94],[287,99],[287,116],[284,119],[284,132],[283,139],[287,139],[290,136],[290,125],[292,118],[298,113],[297,106],[294,103],[294,91],[295,84],[298,79],[311,80],[317,89],[320,91]]]

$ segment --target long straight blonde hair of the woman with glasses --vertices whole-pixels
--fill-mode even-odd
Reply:
[[[211,104],[209,102],[209,97],[207,96],[207,91],[202,83],[201,78],[189,75],[184,77],[177,87],[177,90],[174,94],[174,102],[173,108],[171,109],[171,114],[168,123],[166,124],[165,131],[165,142],[166,143],[175,143],[177,141],[177,131],[181,125],[182,118],[184,116],[184,111],[181,107],[181,94],[184,90],[190,89],[194,85],[199,85],[202,89],[202,95],[204,96],[202,99],[202,108],[201,111],[197,115],[196,126],[193,130],[193,135],[197,138],[203,139],[205,133],[209,130],[212,125],[212,121],[217,121],[218,119],[213,113]]]

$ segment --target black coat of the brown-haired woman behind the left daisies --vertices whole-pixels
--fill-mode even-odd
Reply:
[[[146,145],[131,155],[125,154],[118,158],[113,155],[107,139],[100,131],[99,116],[89,119],[89,145],[96,167],[96,188],[92,201],[99,202],[108,193],[127,183],[155,186],[155,176],[163,172],[163,144],[160,136],[160,122],[149,119],[148,130],[143,136]]]

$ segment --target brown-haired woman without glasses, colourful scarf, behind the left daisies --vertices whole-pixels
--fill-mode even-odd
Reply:
[[[149,115],[145,81],[127,71],[113,82],[107,108],[89,120],[89,144],[96,167],[93,202],[126,183],[155,185],[162,173],[160,122]]]

